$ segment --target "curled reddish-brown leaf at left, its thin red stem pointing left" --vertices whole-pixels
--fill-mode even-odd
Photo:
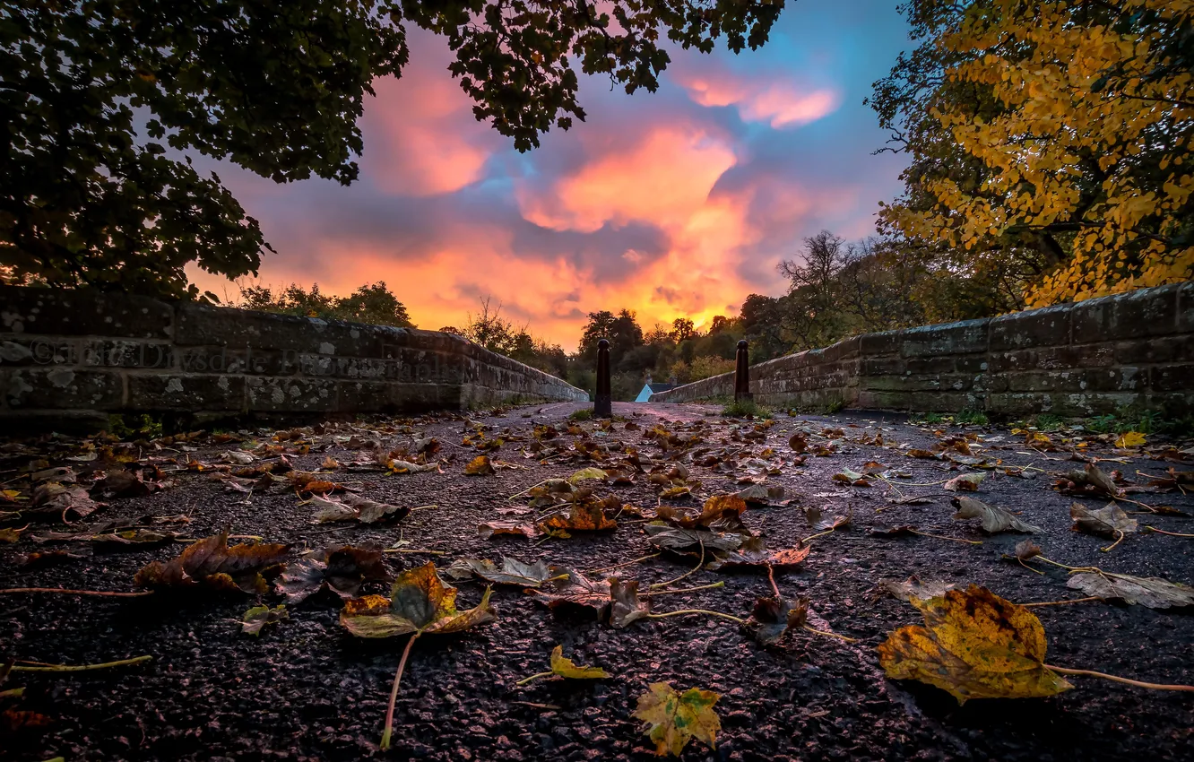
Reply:
[[[290,554],[289,545],[254,542],[228,546],[229,530],[192,543],[165,564],[150,561],[137,572],[142,588],[186,588],[204,585],[216,590],[266,592],[264,574],[281,570]]]

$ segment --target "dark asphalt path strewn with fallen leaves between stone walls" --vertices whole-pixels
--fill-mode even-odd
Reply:
[[[618,404],[613,423],[570,420],[580,407],[5,443],[0,588],[153,592],[0,594],[0,659],[18,668],[0,684],[0,758],[650,760],[642,719],[663,709],[639,699],[664,682],[720,695],[716,749],[702,741],[706,719],[685,760],[1188,757],[1192,693],[1066,676],[1073,689],[1051,698],[960,706],[888,680],[876,646],[924,622],[906,597],[918,588],[894,584],[916,576],[1015,603],[1088,598],[1028,609],[1046,663],[1194,683],[1188,589],[1113,589],[1124,576],[1194,582],[1189,442],[879,414],[741,420],[695,405]],[[487,467],[466,475],[481,455]],[[707,503],[733,493],[749,500]],[[959,496],[979,504],[959,511]],[[1122,515],[1071,518],[1075,503]],[[617,526],[589,531],[579,518]],[[171,564],[224,529],[233,543],[290,547],[226,558],[211,540]],[[344,545],[357,549],[337,553]],[[201,553],[205,565],[192,563]],[[504,570],[522,584],[493,586],[492,622],[412,646],[381,751],[408,635],[353,637],[341,596],[388,596],[394,576],[431,561],[466,614],[487,585],[474,571],[497,577],[480,561],[504,558],[523,563]],[[787,632],[732,619],[765,619],[768,565],[787,607],[807,598],[807,619]],[[1067,586],[1083,574],[1102,586]],[[599,619],[546,606],[581,576],[618,579]],[[388,606],[361,600],[353,612]],[[263,606],[245,634],[246,612]],[[658,616],[694,609],[728,617]],[[541,675],[555,646],[609,677]],[[152,659],[19,669],[141,656]]]

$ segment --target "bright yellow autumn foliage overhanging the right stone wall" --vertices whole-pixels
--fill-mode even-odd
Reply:
[[[944,79],[998,107],[941,97],[930,113],[987,171],[913,178],[935,203],[887,205],[884,222],[965,250],[1050,236],[1059,256],[1029,307],[1194,278],[1194,0],[1116,6],[967,6],[937,38]]]

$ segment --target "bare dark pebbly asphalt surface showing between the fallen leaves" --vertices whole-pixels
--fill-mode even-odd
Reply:
[[[394,553],[387,560],[394,571],[435,560],[441,567],[456,558],[513,555],[524,561],[543,559],[577,569],[598,569],[652,552],[635,518],[620,517],[616,531],[548,539],[538,542],[500,536],[481,540],[476,524],[501,518],[497,508],[518,505],[509,496],[550,477],[566,477],[578,468],[601,465],[586,460],[549,457],[547,463],[524,456],[534,442],[534,424],[561,424],[580,405],[556,404],[480,413],[464,417],[427,417],[413,422],[353,424],[359,440],[374,438],[392,449],[408,444],[413,435],[433,436],[442,443],[436,457],[443,473],[383,475],[380,472],[334,472],[331,478],[370,498],[402,506],[424,506],[395,524],[313,524],[315,508],[303,504],[294,490],[252,494],[228,491],[210,472],[180,471],[159,463],[170,486],[137,498],[112,498],[107,506],[78,528],[118,517],[149,523],[146,517],[185,515],[185,526],[155,524],[203,537],[230,527],[234,534],[260,535],[269,541],[295,543],[295,551],[351,542],[433,549],[442,555]],[[1130,535],[1110,552],[1110,541],[1070,529],[1069,506],[1079,499],[1091,508],[1107,500],[1073,498],[1054,487],[1054,473],[1082,468],[1071,460],[1069,445],[1055,451],[1024,444],[1023,434],[998,426],[916,425],[904,417],[843,413],[830,417],[789,417],[781,413],[767,429],[764,441],[736,442],[751,432],[755,422],[725,419],[714,408],[696,405],[616,405],[622,418],[609,431],[595,434],[597,424],[579,424],[584,438],[611,450],[628,444],[664,461],[672,455],[691,457],[712,448],[737,449],[737,457],[764,448],[782,460],[780,474],[768,485],[787,490],[787,504],[752,508],[744,521],[767,535],[770,547],[790,547],[814,534],[805,508],[824,515],[853,514],[853,523],[811,541],[812,553],[796,570],[776,574],[787,596],[811,600],[811,623],[857,639],[850,644],[810,633],[790,634],[780,646],[763,647],[731,621],[689,615],[645,620],[614,629],[574,614],[556,614],[516,588],[494,590],[497,621],[457,635],[425,637],[416,644],[402,678],[395,713],[394,749],[381,752],[377,741],[386,713],[390,681],[405,638],[364,641],[350,637],[338,623],[340,602],[324,594],[290,610],[290,619],[266,627],[259,637],[240,633],[244,612],[258,602],[277,603],[270,594],[184,595],[160,591],[142,598],[79,597],[45,594],[0,595],[0,657],[84,664],[152,655],[153,660],[128,668],[82,674],[21,672],[4,688],[24,686],[20,709],[51,718],[42,731],[2,735],[0,758],[45,760],[650,760],[653,746],[630,714],[648,683],[670,681],[677,689],[700,687],[722,694],[716,705],[722,731],[715,750],[693,742],[687,760],[814,761],[814,760],[1060,760],[1149,758],[1152,762],[1190,758],[1194,749],[1194,694],[1150,692],[1088,677],[1073,677],[1075,689],[1050,699],[975,700],[959,706],[948,694],[918,683],[886,680],[875,646],[888,632],[919,621],[906,602],[876,591],[880,579],[910,574],[975,583],[1016,602],[1081,597],[1065,586],[1066,572],[1042,563],[1029,563],[1042,573],[1002,558],[1024,535],[987,536],[978,522],[950,517],[952,493],[941,481],[975,471],[944,460],[909,457],[910,448],[933,448],[943,436],[977,435],[989,461],[998,468],[972,497],[1007,508],[1023,521],[1046,530],[1036,540],[1047,557],[1070,565],[1163,577],[1194,583],[1194,539],[1140,533]],[[627,430],[626,422],[638,430]],[[521,441],[510,441],[491,456],[517,468],[499,468],[493,475],[466,477],[464,463],[478,454],[462,445],[462,437],[485,424],[486,435],[510,429]],[[703,442],[693,448],[663,453],[644,432],[657,423],[679,434],[700,425]],[[679,422],[679,423],[677,423]],[[843,435],[810,436],[811,444],[837,440],[837,451],[807,455],[793,465],[789,437],[800,428],[820,432],[842,429]],[[632,428],[633,429],[633,428]],[[322,435],[310,435],[315,447],[307,454],[289,454],[295,468],[315,471],[328,455],[341,463],[368,450],[349,449],[333,435],[346,436],[347,424],[328,424]],[[942,434],[936,434],[940,430]],[[309,431],[309,430],[308,430]],[[860,444],[881,431],[885,444]],[[737,432],[737,434],[736,434]],[[272,431],[252,431],[250,440],[269,442]],[[1072,436],[1072,435],[1070,435]],[[1064,435],[1051,435],[1061,443]],[[571,447],[580,436],[561,434],[548,444]],[[1151,437],[1150,437],[1151,440]],[[100,462],[69,462],[78,443],[66,440],[31,444],[50,465],[68,463],[87,484],[86,473]],[[356,447],[357,443],[352,443]],[[220,454],[246,443],[211,444],[199,437],[190,453],[217,463]],[[900,445],[905,445],[903,449]],[[1149,447],[1156,443],[1150,441]],[[1178,443],[1178,448],[1188,447]],[[1107,441],[1091,438],[1084,455],[1119,459],[1102,462],[1104,471],[1122,472],[1128,483],[1144,485],[1147,474],[1163,474],[1194,466],[1161,460],[1157,449],[1118,453]],[[148,457],[180,459],[178,449],[142,450]],[[1180,457],[1173,455],[1171,457]],[[13,479],[26,468],[31,450],[7,447],[2,469]],[[909,474],[894,479],[901,494],[924,494],[927,504],[894,504],[897,493],[884,484],[851,487],[832,481],[843,467],[861,469],[879,461]],[[1032,466],[1022,477],[1005,473],[1009,466]],[[697,506],[701,498],[737,491],[736,477],[690,465],[700,480],[697,498],[675,500]],[[929,484],[935,483],[935,484]],[[923,486],[912,486],[923,485]],[[27,481],[10,481],[5,488],[26,490]],[[642,509],[658,504],[654,487],[639,474],[632,486],[597,486],[599,496]],[[23,493],[24,494],[24,493]],[[307,496],[303,496],[307,497]],[[1194,497],[1180,491],[1127,496],[1150,506],[1168,505],[1194,514]],[[523,503],[524,504],[524,503]],[[1138,505],[1122,503],[1126,509]],[[0,504],[0,510],[13,510]],[[876,512],[878,511],[878,512]],[[650,512],[650,510],[648,510]],[[1194,533],[1194,520],[1175,515],[1133,515],[1141,524],[1169,531]],[[20,527],[24,520],[8,521]],[[925,536],[876,537],[873,527],[913,524],[923,531],[980,540],[983,545]],[[183,545],[113,553],[92,553],[90,543],[38,546],[31,535],[57,528],[35,523],[16,543],[0,543],[0,588],[50,586],[93,590],[134,590],[134,576],[146,563],[174,558]],[[50,547],[70,549],[80,558],[56,565],[24,569],[21,554]],[[645,586],[693,569],[693,559],[663,557],[620,570],[624,578]],[[654,610],[704,608],[738,616],[750,614],[757,596],[769,595],[765,573],[757,571],[697,571],[683,585],[724,580],[721,589],[671,595],[656,600]],[[481,596],[478,582],[455,583],[460,603],[474,606]],[[386,592],[369,583],[367,592]],[[1053,664],[1100,670],[1138,680],[1194,684],[1194,619],[1189,609],[1153,610],[1143,606],[1108,602],[1076,603],[1034,609],[1048,637]],[[522,677],[547,669],[555,645],[579,664],[603,666],[613,677],[603,681],[540,680],[525,687]],[[2,708],[2,707],[0,707]]]

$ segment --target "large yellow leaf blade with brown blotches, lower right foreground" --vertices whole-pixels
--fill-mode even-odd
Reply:
[[[892,680],[918,680],[970,699],[1052,696],[1073,686],[1045,666],[1045,628],[1022,606],[986,588],[911,598],[924,627],[901,627],[879,645]]]

